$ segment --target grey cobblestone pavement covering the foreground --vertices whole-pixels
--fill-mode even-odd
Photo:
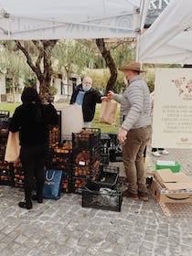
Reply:
[[[160,159],[178,161],[191,176],[191,150],[169,151]],[[147,152],[147,175],[156,159]],[[0,187],[1,256],[192,255],[192,218],[165,217],[150,191],[148,202],[123,199],[121,212],[82,208],[78,194],[27,210],[17,207],[22,197],[22,189]]]

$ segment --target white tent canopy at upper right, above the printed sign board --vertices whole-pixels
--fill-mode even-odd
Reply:
[[[172,0],[140,37],[143,63],[192,64],[192,1]]]

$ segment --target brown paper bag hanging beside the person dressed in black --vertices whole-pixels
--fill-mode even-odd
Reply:
[[[20,155],[19,132],[8,133],[8,139],[5,149],[5,161],[15,163],[19,161]]]

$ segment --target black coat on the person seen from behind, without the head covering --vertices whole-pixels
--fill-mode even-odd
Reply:
[[[19,131],[20,144],[46,144],[48,125],[56,125],[59,118],[53,105],[23,103],[16,108],[9,123],[9,131]]]

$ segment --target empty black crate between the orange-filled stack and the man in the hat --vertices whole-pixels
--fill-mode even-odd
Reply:
[[[101,165],[96,182],[100,187],[115,187],[119,173],[120,169],[117,166]]]

